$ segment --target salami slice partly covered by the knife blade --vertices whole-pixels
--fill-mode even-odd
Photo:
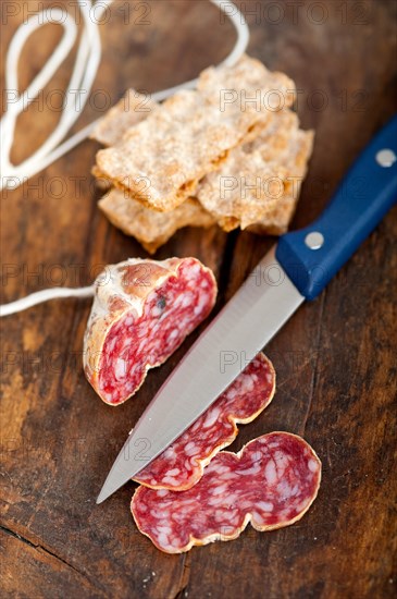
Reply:
[[[270,404],[274,389],[273,365],[258,354],[196,423],[134,480],[152,489],[190,489],[212,457],[237,437],[236,425],[250,423]]]

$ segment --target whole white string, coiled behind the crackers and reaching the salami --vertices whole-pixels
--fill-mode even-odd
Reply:
[[[7,94],[14,93],[16,96],[12,101],[10,97],[8,97],[7,112],[0,121],[0,190],[4,187],[15,188],[34,174],[37,174],[49,164],[52,164],[58,158],[86,139],[98,122],[90,123],[78,133],[69,137],[65,142],[62,142],[73,124],[77,121],[88,100],[89,91],[92,87],[101,59],[101,41],[98,23],[113,0],[98,0],[98,2],[91,0],[77,1],[83,15],[84,28],[72,76],[65,93],[61,119],[46,142],[29,158],[17,166],[12,164],[10,160],[16,119],[21,112],[26,110],[28,105],[37,98],[44,87],[50,82],[57,69],[70,53],[77,37],[77,25],[70,13],[58,8],[49,8],[29,16],[29,19],[17,28],[11,40],[5,60],[5,91]],[[248,25],[243,14],[233,2],[228,0],[210,0],[210,2],[219,7],[236,28],[236,44],[228,57],[221,63],[233,65],[241,57],[248,46]],[[91,19],[92,9],[95,9],[95,20]],[[23,94],[18,95],[17,66],[22,49],[27,38],[36,29],[48,23],[54,23],[63,27],[64,32],[62,39],[28,88]],[[197,80],[191,80],[182,85],[157,91],[152,97],[154,100],[161,101],[172,94],[175,94],[178,89],[193,88],[196,84]],[[84,94],[82,94],[82,91],[84,91]],[[36,304],[55,297],[88,297],[94,295],[94,285],[80,289],[54,288],[42,290],[22,300],[17,300],[16,302],[0,306],[0,317],[27,309]]]

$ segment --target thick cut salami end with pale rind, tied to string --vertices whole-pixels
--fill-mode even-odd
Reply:
[[[107,267],[84,339],[84,370],[110,405],[125,402],[211,311],[212,271],[196,258],[129,259]]]

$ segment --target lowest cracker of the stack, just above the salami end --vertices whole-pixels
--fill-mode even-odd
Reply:
[[[210,227],[214,223],[213,217],[194,198],[171,212],[157,212],[127,197],[122,191],[111,190],[98,206],[112,224],[133,235],[150,254],[154,254],[183,227]]]

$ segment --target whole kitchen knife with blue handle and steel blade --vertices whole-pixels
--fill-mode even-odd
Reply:
[[[397,115],[363,150],[312,224],[286,233],[174,369],[131,431],[101,503],[188,428],[273,338],[314,300],[397,199]]]

